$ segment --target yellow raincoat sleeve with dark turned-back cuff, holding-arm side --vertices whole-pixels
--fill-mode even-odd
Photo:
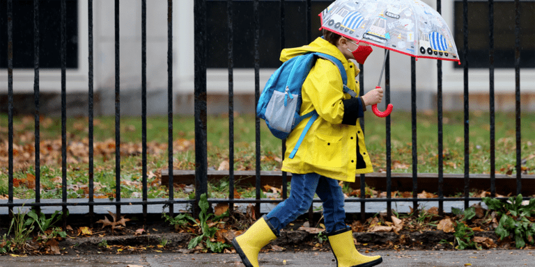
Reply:
[[[332,124],[357,124],[364,117],[362,99],[346,99],[338,68],[330,61],[318,59],[312,68],[303,90],[321,118]]]

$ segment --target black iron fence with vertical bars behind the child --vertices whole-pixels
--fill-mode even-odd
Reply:
[[[146,79],[146,8],[147,8],[147,1],[141,0],[141,58],[142,58],[142,69],[141,69],[141,103],[142,103],[142,198],[137,201],[128,201],[124,202],[121,200],[121,132],[120,132],[120,118],[121,118],[121,84],[120,84],[120,70],[121,66],[119,65],[119,53],[121,51],[120,49],[120,39],[119,39],[119,9],[120,9],[120,1],[115,0],[115,10],[114,10],[114,29],[115,29],[115,141],[116,141],[116,150],[115,150],[115,173],[116,173],[116,189],[115,189],[115,201],[114,205],[116,206],[116,213],[118,216],[121,214],[121,207],[123,205],[141,205],[143,207],[143,213],[144,218],[147,216],[147,205],[148,204],[162,204],[169,206],[169,213],[171,216],[173,216],[173,204],[177,203],[189,203],[193,204],[193,211],[194,213],[199,212],[199,197],[202,193],[207,193],[208,191],[208,160],[207,160],[207,56],[206,51],[208,49],[207,42],[207,1],[206,0],[194,0],[194,43],[195,43],[195,58],[194,58],[194,118],[195,118],[195,190],[196,190],[196,198],[195,200],[178,200],[175,199],[173,196],[173,1],[168,0],[168,9],[167,9],[167,16],[168,16],[168,24],[167,24],[167,33],[168,33],[168,53],[167,53],[167,66],[168,66],[168,133],[169,133],[169,199],[168,200],[160,200],[160,201],[149,201],[147,196],[147,104],[146,104],[146,88],[147,88],[147,79]],[[226,24],[228,26],[228,122],[229,122],[229,162],[234,162],[234,118],[233,118],[233,107],[234,107],[234,101],[233,101],[233,86],[234,86],[234,79],[233,79],[233,68],[234,68],[234,58],[235,55],[233,54],[233,38],[235,36],[233,29],[235,27],[235,22],[233,21],[233,5],[236,1],[233,0],[226,0],[226,13],[227,13],[227,20]],[[260,84],[260,78],[259,78],[259,72],[260,72],[260,32],[261,32],[261,23],[260,23],[260,12],[259,4],[261,1],[259,0],[252,0],[252,7],[253,9],[251,12],[253,13],[253,22],[251,23],[251,27],[254,28],[254,90],[255,90],[255,97],[256,101],[258,102],[258,97],[260,95],[261,91],[261,84]],[[280,28],[279,28],[279,36],[280,36],[280,48],[284,48],[285,46],[285,1],[279,0],[279,10],[280,10]],[[307,25],[307,42],[311,41],[311,0],[304,0],[302,1],[305,8],[302,12],[304,16],[304,20]],[[522,169],[521,169],[521,146],[520,146],[520,1],[515,0],[515,138],[516,138],[516,192],[520,193],[522,191],[522,176],[525,178],[526,175],[522,175]],[[437,11],[441,13],[441,1],[436,1]],[[109,205],[109,202],[95,202],[94,196],[93,196],[93,172],[94,172],[94,165],[93,165],[93,0],[88,0],[88,6],[82,7],[87,8],[88,11],[88,200],[86,202],[70,202],[68,200],[68,194],[67,194],[67,152],[66,152],[66,143],[67,143],[67,137],[66,137],[66,129],[65,129],[65,122],[67,118],[66,113],[66,104],[65,104],[65,95],[66,95],[66,81],[65,81],[65,69],[66,69],[66,38],[65,38],[65,17],[66,17],[66,8],[65,8],[65,0],[61,0],[61,9],[59,10],[60,18],[61,18],[61,46],[58,48],[61,51],[61,140],[62,140],[62,175],[61,175],[61,202],[56,203],[43,203],[41,202],[41,196],[40,196],[40,154],[35,154],[35,174],[36,174],[36,198],[35,202],[30,204],[24,204],[26,207],[37,207],[38,209],[40,207],[44,206],[56,206],[56,207],[62,207],[63,211],[67,211],[69,206],[88,206],[89,207],[89,214],[91,216],[91,221],[93,222],[93,208],[98,205]],[[490,177],[490,193],[491,196],[495,197],[496,195],[496,175],[495,175],[495,92],[494,92],[494,83],[495,83],[495,68],[494,68],[494,1],[489,0],[488,1],[488,23],[489,23],[489,54],[488,54],[488,60],[490,63],[489,67],[489,88],[490,88],[490,174],[488,177]],[[39,88],[39,71],[40,71],[40,55],[39,55],[39,40],[40,40],[40,31],[39,31],[39,1],[34,0],[33,1],[33,10],[34,10],[34,17],[33,17],[33,51],[34,51],[34,70],[35,70],[35,76],[34,76],[34,99],[35,99],[35,151],[40,151],[40,88]],[[469,162],[469,144],[470,144],[470,134],[469,134],[469,86],[468,86],[468,71],[469,71],[469,62],[467,61],[467,49],[468,49],[468,1],[463,1],[463,49],[462,49],[462,66],[464,70],[464,194],[463,197],[444,197],[444,172],[443,172],[443,166],[444,166],[444,159],[443,159],[443,129],[444,126],[442,124],[442,62],[440,60],[437,61],[437,125],[438,125],[438,131],[437,131],[437,140],[438,140],[438,147],[437,147],[437,154],[438,154],[438,168],[437,168],[437,176],[436,176],[436,185],[437,185],[437,192],[438,192],[438,198],[437,201],[439,203],[439,212],[442,214],[444,213],[444,201],[461,201],[464,202],[465,208],[468,207],[470,201],[474,200],[481,200],[479,197],[470,197],[469,195],[469,188],[471,184],[471,175],[470,175],[470,162]],[[0,202],[0,207],[8,207],[10,212],[13,212],[13,207],[21,206],[21,204],[17,204],[13,202],[13,61],[17,60],[17,58],[13,57],[13,24],[17,22],[16,19],[13,18],[13,0],[7,0],[7,35],[8,35],[8,200],[7,202]],[[163,10],[162,10],[163,12]],[[387,59],[386,63],[386,69],[385,69],[385,102],[386,104],[389,104],[391,102],[390,99],[390,64],[389,64],[389,58]],[[361,70],[360,75],[360,84],[364,86],[364,66],[359,65],[359,68]],[[365,207],[366,203],[369,202],[386,202],[387,203],[387,211],[389,215],[391,215],[391,204],[392,202],[412,202],[414,209],[416,209],[418,202],[421,202],[422,199],[419,199],[417,196],[418,191],[418,177],[419,173],[417,173],[418,166],[417,166],[417,102],[416,102],[416,82],[417,82],[417,76],[416,76],[416,61],[414,58],[411,60],[411,92],[412,92],[412,105],[411,105],[411,111],[412,111],[412,197],[411,198],[393,198],[392,197],[392,173],[391,173],[391,120],[389,117],[385,120],[385,127],[386,127],[386,181],[387,181],[387,197],[386,198],[374,198],[374,199],[366,199],[365,197],[365,191],[361,191],[360,197],[355,198],[348,198],[346,199],[346,202],[359,202],[360,208],[361,208],[361,214],[362,218],[365,217]],[[362,94],[362,90],[361,90]],[[360,123],[362,125],[362,128],[364,129],[364,118],[360,120]],[[236,199],[234,195],[234,187],[235,187],[235,174],[233,170],[233,164],[231,164],[231,168],[229,170],[229,195],[228,199],[221,199],[221,200],[211,200],[212,203],[219,203],[219,202],[225,202],[225,203],[254,203],[256,204],[256,214],[260,214],[260,204],[261,203],[273,203],[273,202],[281,202],[281,200],[268,200],[268,199],[261,199],[261,140],[260,140],[260,127],[261,121],[256,118],[256,199],[255,200],[242,200],[242,199]],[[284,147],[284,142],[282,143],[283,147],[283,156],[284,156],[284,150],[286,147]],[[420,174],[421,175],[421,174]],[[368,175],[370,177],[370,175]],[[365,188],[366,186],[366,175],[360,175],[360,188]],[[532,175],[530,175],[530,178]],[[281,174],[282,179],[282,200],[286,199],[287,197],[287,181],[288,181],[288,175],[286,172],[283,172]],[[320,200],[314,200],[314,202],[320,202]],[[233,205],[230,206],[230,208],[233,208]],[[311,209],[312,211],[312,209]],[[65,212],[63,212],[65,214]],[[65,219],[65,218],[64,218]]]

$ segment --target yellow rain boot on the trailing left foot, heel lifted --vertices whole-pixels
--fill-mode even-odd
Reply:
[[[265,216],[256,221],[245,233],[232,241],[234,249],[247,267],[258,267],[258,252],[267,243],[277,238],[274,228],[265,220]]]

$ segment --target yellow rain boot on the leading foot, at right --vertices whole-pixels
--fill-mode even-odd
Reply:
[[[338,267],[371,267],[382,262],[380,256],[364,256],[357,251],[353,243],[351,227],[329,233],[327,238],[329,238]]]

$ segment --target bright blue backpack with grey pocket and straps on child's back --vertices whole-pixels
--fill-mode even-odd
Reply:
[[[344,69],[341,61],[334,56],[317,52],[309,53],[290,58],[290,60],[282,64],[265,83],[264,90],[256,106],[256,115],[258,118],[265,120],[267,128],[279,139],[287,138],[297,124],[311,117],[290,153],[290,159],[293,159],[307,131],[318,118],[316,111],[311,111],[302,116],[299,115],[302,104],[301,88],[318,57],[329,60],[336,65],[342,76],[343,92],[347,92],[351,97],[357,96],[355,91],[347,86],[346,69]]]

